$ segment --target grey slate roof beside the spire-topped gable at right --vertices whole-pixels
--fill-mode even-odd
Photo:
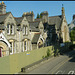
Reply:
[[[62,22],[62,15],[59,16],[52,16],[48,18],[49,25],[56,25],[57,29],[59,29]]]

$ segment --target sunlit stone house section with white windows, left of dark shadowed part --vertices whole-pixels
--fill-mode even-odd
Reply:
[[[43,47],[43,23],[34,21],[33,12],[14,17],[0,3],[0,57]]]

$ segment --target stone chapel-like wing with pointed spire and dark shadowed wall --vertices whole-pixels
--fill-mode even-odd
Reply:
[[[42,18],[35,21],[42,21],[44,25],[44,33],[47,34],[46,45],[55,44],[56,42],[69,42],[69,29],[65,17],[65,10],[62,6],[62,14],[48,17],[48,12],[42,12]]]

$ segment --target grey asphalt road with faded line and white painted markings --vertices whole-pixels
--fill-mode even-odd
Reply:
[[[52,57],[24,74],[75,74],[75,50]]]

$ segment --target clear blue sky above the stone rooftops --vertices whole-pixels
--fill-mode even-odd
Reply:
[[[62,4],[68,24],[75,14],[75,1],[4,1],[4,3],[6,11],[11,12],[14,17],[21,17],[24,12],[30,11],[34,12],[34,18],[43,11],[48,11],[49,16],[61,15]]]

